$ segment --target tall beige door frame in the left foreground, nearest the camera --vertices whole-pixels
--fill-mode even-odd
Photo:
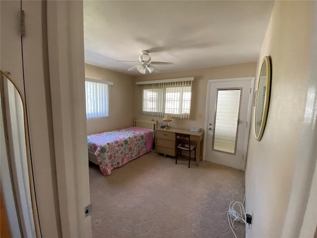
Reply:
[[[54,154],[63,237],[92,237],[83,1],[47,1]],[[70,44],[71,42],[71,44]]]

